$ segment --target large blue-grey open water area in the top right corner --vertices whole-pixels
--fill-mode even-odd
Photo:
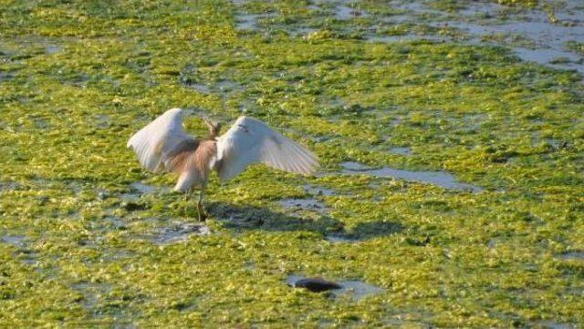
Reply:
[[[464,7],[454,12],[430,8],[422,2],[392,2],[401,10],[401,15],[381,17],[384,24],[420,24],[443,28],[454,27],[467,37],[472,45],[497,44],[509,46],[517,57],[547,67],[576,70],[584,74],[584,57],[578,51],[569,49],[568,41],[584,41],[584,3],[568,0],[555,3],[553,17],[541,7],[510,8],[491,2],[464,2]],[[343,13],[347,15],[348,9]],[[423,19],[421,18],[423,17]],[[516,38],[522,41],[517,42]],[[411,40],[455,41],[453,36],[433,33],[402,36],[380,36],[370,34],[368,42],[396,42]]]

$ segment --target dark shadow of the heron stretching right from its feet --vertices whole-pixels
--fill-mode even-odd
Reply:
[[[313,231],[325,237],[361,241],[404,230],[403,225],[396,221],[360,222],[348,230],[342,221],[328,215],[316,219],[302,218],[266,208],[220,202],[208,204],[207,211],[223,221],[225,228],[235,231]]]

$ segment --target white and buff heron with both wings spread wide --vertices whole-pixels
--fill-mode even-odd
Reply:
[[[239,117],[222,136],[221,125],[203,118],[209,127],[209,137],[195,139],[183,130],[181,108],[171,108],[128,140],[141,166],[156,173],[179,175],[174,190],[185,192],[200,186],[197,213],[199,221],[206,218],[203,210],[204,190],[212,170],[221,180],[234,178],[253,163],[308,175],[318,169],[318,158],[292,139],[250,117]]]

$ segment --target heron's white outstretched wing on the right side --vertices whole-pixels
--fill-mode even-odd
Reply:
[[[255,162],[305,175],[318,169],[318,159],[308,149],[258,119],[239,117],[217,140],[216,170],[229,180]]]

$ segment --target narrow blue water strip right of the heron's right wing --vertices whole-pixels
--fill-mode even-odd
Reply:
[[[343,168],[342,173],[346,175],[370,175],[379,178],[415,181],[437,185],[449,190],[467,190],[472,192],[483,190],[472,184],[458,182],[452,174],[445,171],[396,170],[390,167],[374,169],[359,162],[343,162],[340,165]]]

